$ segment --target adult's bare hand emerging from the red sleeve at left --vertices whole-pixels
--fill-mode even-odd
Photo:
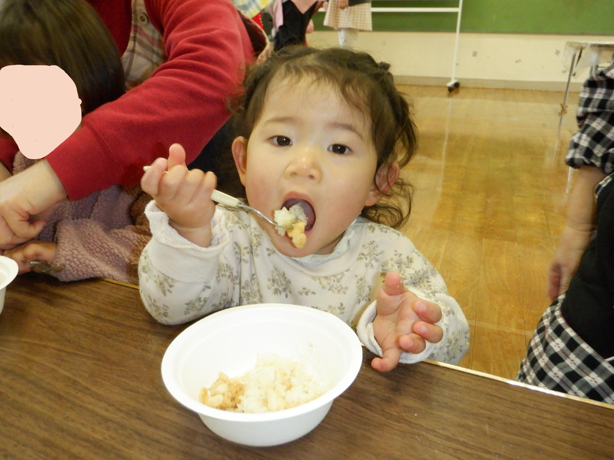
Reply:
[[[0,249],[15,247],[41,232],[35,217],[66,199],[66,190],[46,160],[0,182]],[[32,219],[32,217],[35,217]]]

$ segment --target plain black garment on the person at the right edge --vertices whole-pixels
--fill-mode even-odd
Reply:
[[[561,313],[599,355],[614,356],[614,180],[599,190],[597,233],[569,283]]]

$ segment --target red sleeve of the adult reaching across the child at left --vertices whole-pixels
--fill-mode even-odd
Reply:
[[[68,197],[135,185],[142,166],[179,142],[190,163],[228,120],[252,45],[227,0],[149,0],[168,61],[144,83],[83,118],[82,129],[46,158]],[[1,158],[0,158],[1,159]]]

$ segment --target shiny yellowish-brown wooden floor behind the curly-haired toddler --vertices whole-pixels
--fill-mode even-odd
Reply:
[[[561,120],[562,93],[400,89],[414,102],[420,142],[404,170],[415,187],[405,233],[467,316],[461,366],[513,378],[550,304],[546,270],[564,225],[578,94]]]

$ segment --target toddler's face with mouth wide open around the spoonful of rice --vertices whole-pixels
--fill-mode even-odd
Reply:
[[[284,255],[331,253],[363,207],[379,200],[371,122],[331,86],[271,83],[247,149],[241,139],[233,153],[249,204],[271,218],[295,201],[306,209],[307,242],[300,249],[260,223]]]

